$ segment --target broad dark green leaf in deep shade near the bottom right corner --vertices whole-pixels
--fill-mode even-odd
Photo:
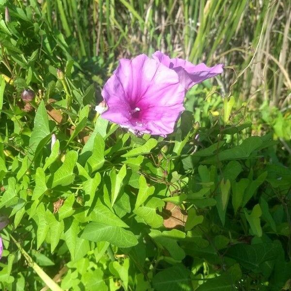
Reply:
[[[276,259],[279,250],[277,243],[239,243],[230,246],[226,256],[235,259],[243,268],[258,272],[263,262]]]

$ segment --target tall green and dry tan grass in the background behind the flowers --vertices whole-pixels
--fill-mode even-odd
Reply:
[[[194,63],[225,63],[226,94],[250,104],[290,104],[290,0],[39,2],[51,30],[74,39],[74,58],[115,60],[161,49]]]

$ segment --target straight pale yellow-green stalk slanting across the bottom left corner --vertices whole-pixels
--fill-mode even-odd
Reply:
[[[20,253],[26,259],[28,265],[32,267],[35,273],[44,281],[44,283],[52,290],[52,291],[63,291],[63,289],[53,281],[49,275],[36,263],[33,261],[31,256],[23,249],[19,242],[10,234],[11,239],[16,244],[17,248],[19,249]]]

